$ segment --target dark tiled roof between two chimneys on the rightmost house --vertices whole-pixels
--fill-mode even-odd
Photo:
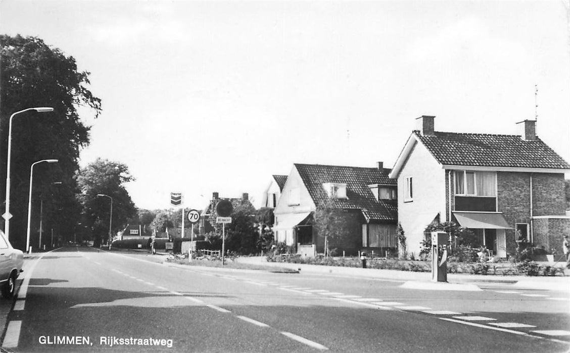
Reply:
[[[441,164],[473,167],[523,167],[568,169],[570,165],[538,137],[519,135],[459,134],[439,132],[414,135]]]

